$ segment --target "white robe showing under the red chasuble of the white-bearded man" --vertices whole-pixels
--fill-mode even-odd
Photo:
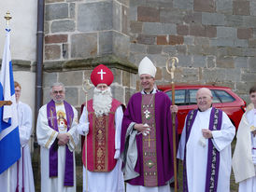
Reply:
[[[83,166],[83,192],[86,192],[88,187],[89,192],[124,192],[124,181],[121,172],[121,159],[120,158],[120,146],[121,146],[121,120],[122,109],[119,106],[115,113],[115,157],[118,158],[118,162],[115,168],[109,172],[92,172],[87,171]],[[78,133],[86,135],[89,131],[88,111],[84,107],[78,124]],[[88,186],[86,186],[86,178],[88,178]],[[99,181],[99,182],[95,182]]]

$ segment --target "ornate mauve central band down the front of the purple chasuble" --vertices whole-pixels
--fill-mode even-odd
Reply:
[[[142,136],[143,150],[143,171],[144,185],[157,186],[157,156],[156,156],[156,126],[155,126],[155,94],[142,95],[141,117],[142,123],[147,123],[150,132],[147,136]]]

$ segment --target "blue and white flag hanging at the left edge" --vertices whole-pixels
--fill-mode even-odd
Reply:
[[[0,101],[11,101],[12,104],[0,107],[0,174],[21,158],[18,114],[10,58],[10,30],[6,30],[6,44],[0,76]]]

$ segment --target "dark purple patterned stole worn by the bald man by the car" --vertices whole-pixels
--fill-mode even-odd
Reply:
[[[191,110],[187,116],[186,120],[186,144],[184,151],[183,160],[183,192],[189,192],[188,182],[187,182],[187,169],[186,169],[186,145],[190,137],[192,130],[192,124],[197,115],[198,109]],[[210,113],[209,130],[220,130],[222,123],[222,111],[212,107]],[[211,139],[208,139],[208,155],[207,155],[207,170],[206,170],[206,192],[217,191],[217,183],[219,176],[220,167],[220,152],[212,144]]]

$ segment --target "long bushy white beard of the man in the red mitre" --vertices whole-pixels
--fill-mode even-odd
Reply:
[[[112,93],[109,87],[105,90],[96,88],[93,90],[92,108],[96,117],[107,116],[111,109],[111,103]]]

